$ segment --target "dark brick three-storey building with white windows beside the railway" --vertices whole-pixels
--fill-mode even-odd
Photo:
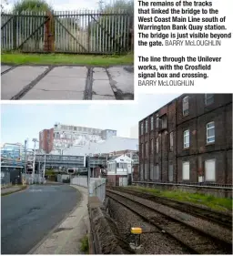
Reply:
[[[232,185],[232,94],[184,94],[138,130],[141,181]]]

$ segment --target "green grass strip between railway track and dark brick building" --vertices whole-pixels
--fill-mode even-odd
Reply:
[[[141,192],[149,192],[156,196],[165,197],[172,200],[191,202],[198,205],[205,205],[212,210],[232,210],[232,199],[217,198],[202,193],[188,193],[181,190],[159,190],[151,188],[136,188],[131,186],[130,189],[136,189]]]

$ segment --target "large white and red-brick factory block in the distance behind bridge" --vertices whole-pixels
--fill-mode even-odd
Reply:
[[[54,154],[63,154],[66,148],[84,147],[90,142],[99,142],[117,136],[117,130],[67,126],[56,123],[54,128],[39,133],[39,148]]]

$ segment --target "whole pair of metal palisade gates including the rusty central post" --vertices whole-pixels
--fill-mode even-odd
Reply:
[[[133,14],[22,12],[1,15],[2,50],[76,54],[115,54],[132,50]]]

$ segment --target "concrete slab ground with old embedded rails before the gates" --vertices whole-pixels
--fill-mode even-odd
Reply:
[[[134,68],[79,66],[2,67],[1,99],[133,100]]]

